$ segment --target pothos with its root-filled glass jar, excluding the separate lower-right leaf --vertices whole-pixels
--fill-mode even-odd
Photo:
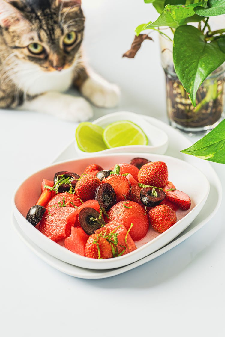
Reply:
[[[136,28],[132,47],[123,56],[134,57],[141,43],[152,39],[141,32],[158,31],[170,124],[189,134],[213,129],[224,110],[225,22],[224,28],[213,30],[211,21],[225,14],[225,0],[144,1],[160,15]]]

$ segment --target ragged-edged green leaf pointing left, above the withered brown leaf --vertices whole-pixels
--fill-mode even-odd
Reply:
[[[186,6],[166,5],[159,18],[153,23],[149,23],[145,29],[151,27],[169,26],[177,28],[186,23],[186,20],[195,15],[194,8],[199,5],[206,6],[207,1],[197,2]]]

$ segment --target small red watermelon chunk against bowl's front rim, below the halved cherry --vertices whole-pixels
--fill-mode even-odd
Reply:
[[[71,235],[65,239],[65,248],[72,252],[85,256],[85,245],[89,235],[87,235],[82,228],[71,228]]]

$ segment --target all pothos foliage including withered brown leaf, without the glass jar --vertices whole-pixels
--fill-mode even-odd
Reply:
[[[145,39],[145,30],[158,31],[171,39],[162,27],[173,32],[173,62],[178,79],[196,106],[197,90],[204,80],[225,62],[225,28],[212,30],[210,17],[225,14],[225,0],[144,0],[159,12],[154,22],[139,25],[131,49],[123,56],[134,57]],[[192,25],[190,23],[197,23]],[[196,26],[196,27],[195,27]],[[171,39],[172,40],[172,39]],[[200,142],[200,143],[199,143]],[[225,123],[182,152],[225,163]]]

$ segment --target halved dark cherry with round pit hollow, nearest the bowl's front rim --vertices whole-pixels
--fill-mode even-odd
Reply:
[[[96,231],[96,229],[101,228],[105,224],[103,216],[101,219],[99,219],[99,215],[99,212],[91,207],[83,208],[80,211],[80,225],[86,234],[94,234],[94,231]]]

